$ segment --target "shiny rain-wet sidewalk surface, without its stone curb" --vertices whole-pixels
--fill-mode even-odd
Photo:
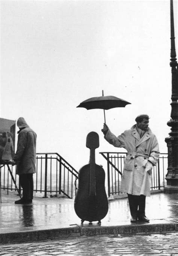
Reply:
[[[74,199],[35,197],[32,204],[16,205],[17,195],[13,192],[2,193],[0,204],[0,229],[15,228],[62,228],[80,225],[80,219],[74,211]],[[178,195],[158,193],[146,198],[146,216],[150,223],[160,221],[178,222]],[[84,222],[87,223],[88,222]],[[130,225],[128,200],[109,201],[109,211],[101,220],[103,226]]]

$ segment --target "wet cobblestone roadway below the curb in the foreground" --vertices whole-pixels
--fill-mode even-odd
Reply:
[[[82,236],[0,245],[0,255],[178,255],[178,233]]]

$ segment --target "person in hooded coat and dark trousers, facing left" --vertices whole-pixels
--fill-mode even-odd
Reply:
[[[36,172],[36,133],[28,126],[23,117],[18,118],[18,141],[14,161],[23,188],[23,198],[15,204],[30,203],[33,199],[33,173]]]

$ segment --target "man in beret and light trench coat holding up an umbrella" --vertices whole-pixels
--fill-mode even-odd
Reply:
[[[148,115],[139,115],[136,124],[116,137],[104,123],[104,138],[115,147],[127,150],[121,180],[121,192],[128,194],[131,222],[149,222],[145,216],[145,199],[150,196],[152,167],[159,159],[156,136],[149,129]]]

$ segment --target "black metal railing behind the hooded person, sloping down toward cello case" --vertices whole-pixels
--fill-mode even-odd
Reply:
[[[36,175],[34,179],[34,191],[65,195],[73,198],[76,194],[75,180],[78,178],[78,172],[58,153],[37,153],[36,154]],[[18,175],[16,175],[16,166],[11,167],[12,174],[20,189]],[[1,187],[7,190],[16,190],[15,185],[9,176],[7,166],[1,170]]]

